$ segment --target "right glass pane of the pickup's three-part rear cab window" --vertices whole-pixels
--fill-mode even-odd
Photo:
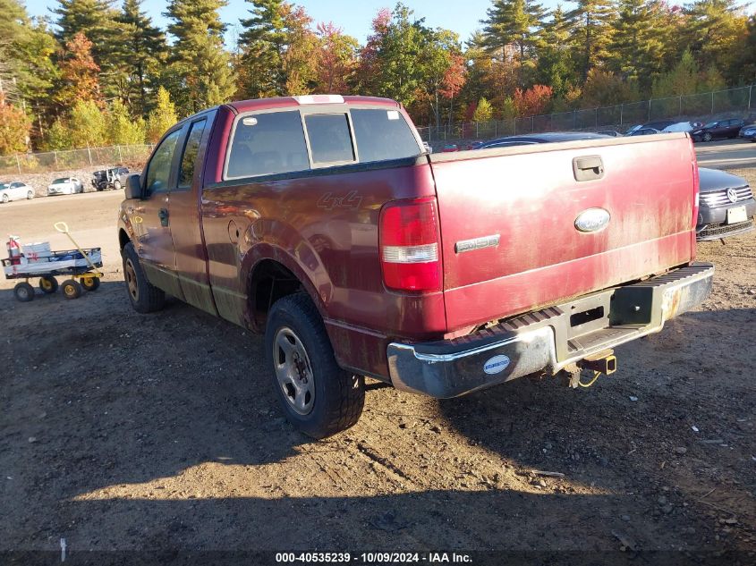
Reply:
[[[355,108],[352,123],[363,163],[420,155],[409,124],[397,110]]]

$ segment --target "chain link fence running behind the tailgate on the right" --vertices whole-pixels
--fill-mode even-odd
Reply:
[[[418,130],[425,141],[443,142],[447,139],[492,139],[544,131],[625,131],[635,124],[655,120],[708,121],[718,114],[750,116],[753,113],[756,113],[756,85],[511,120],[456,122]]]

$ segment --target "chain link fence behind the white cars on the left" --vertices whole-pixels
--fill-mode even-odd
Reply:
[[[0,156],[0,174],[47,173],[66,169],[81,169],[92,165],[130,164],[147,159],[153,147],[152,144],[143,144]]]

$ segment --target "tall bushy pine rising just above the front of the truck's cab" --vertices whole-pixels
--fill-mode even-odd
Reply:
[[[166,17],[175,38],[170,58],[174,99],[181,114],[198,112],[227,101],[234,94],[229,54],[224,48],[225,24],[218,10],[225,0],[171,0]]]

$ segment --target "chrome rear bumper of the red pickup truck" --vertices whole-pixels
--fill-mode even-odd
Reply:
[[[658,332],[709,296],[714,266],[693,264],[598,291],[454,340],[388,345],[396,389],[449,398],[517,377],[555,374],[599,351]]]

